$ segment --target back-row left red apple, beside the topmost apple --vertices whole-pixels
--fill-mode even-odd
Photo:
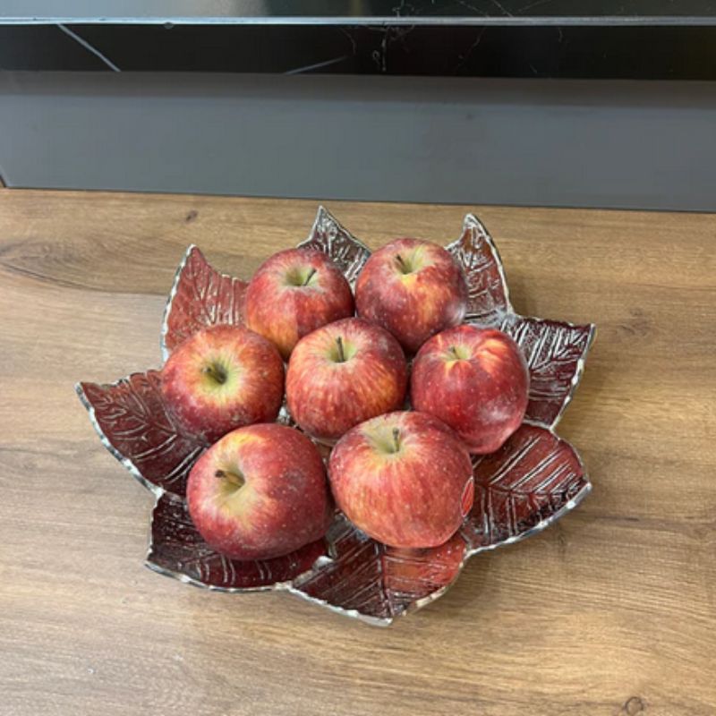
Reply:
[[[285,360],[300,338],[354,312],[345,276],[313,249],[279,251],[264,261],[246,290],[246,325],[267,337]]]

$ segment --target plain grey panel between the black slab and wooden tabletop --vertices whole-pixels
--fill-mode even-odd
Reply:
[[[0,73],[11,186],[716,210],[716,84]]]

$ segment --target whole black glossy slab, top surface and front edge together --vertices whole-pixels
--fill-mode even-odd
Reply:
[[[0,69],[716,79],[716,0],[3,0]]]

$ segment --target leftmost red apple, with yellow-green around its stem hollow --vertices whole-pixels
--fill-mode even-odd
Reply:
[[[276,419],[284,363],[266,338],[241,326],[214,326],[169,356],[161,389],[177,421],[214,442],[242,425]]]

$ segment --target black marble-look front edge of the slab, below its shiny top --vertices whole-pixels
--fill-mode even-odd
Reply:
[[[56,26],[0,27],[0,68],[716,79],[716,27],[72,25],[65,30],[74,37]]]

